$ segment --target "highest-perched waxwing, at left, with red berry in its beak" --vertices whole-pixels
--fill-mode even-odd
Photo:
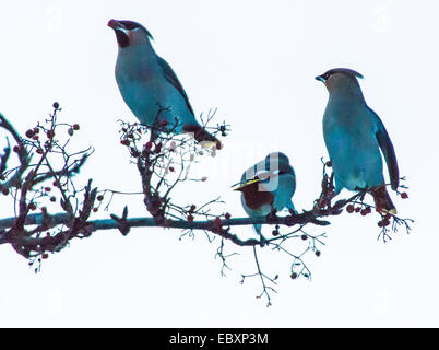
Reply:
[[[116,82],[135,117],[150,127],[156,118],[166,120],[168,130],[192,132],[198,142],[221,149],[221,142],[197,121],[176,73],[155,52],[150,32],[132,21],[110,20],[108,26],[115,31],[119,46]]]

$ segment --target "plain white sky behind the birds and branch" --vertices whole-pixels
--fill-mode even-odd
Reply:
[[[276,252],[261,258],[268,275],[280,275],[269,308],[254,298],[257,279],[239,283],[240,273],[254,272],[251,249],[228,245],[240,255],[221,277],[218,243],[202,233],[179,241],[178,231],[159,229],[134,229],[127,237],[97,232],[51,255],[37,275],[3,245],[0,326],[439,326],[438,10],[435,1],[391,0],[3,2],[0,110],[24,132],[58,101],[61,118],[81,125],[76,149],[96,149],[80,184],[93,177],[103,189],[140,189],[119,144],[117,119],[135,119],[117,90],[116,38],[106,26],[109,19],[129,19],[151,31],[195,113],[217,107],[217,121],[233,128],[225,149],[195,170],[210,179],[181,188],[176,200],[221,196],[226,205],[218,212],[244,217],[229,186],[278,150],[296,170],[296,208],[310,209],[320,189],[320,156],[327,156],[321,119],[328,93],[313,78],[348,67],[365,75],[366,101],[391,136],[410,186],[410,199],[392,198],[415,224],[412,234],[401,231],[385,244],[377,241],[377,215],[344,213],[324,231],[309,226],[309,233],[328,234],[321,257],[308,257],[311,281],[290,280],[290,260]],[[145,214],[139,197],[117,198],[110,212],[126,203],[132,215]],[[11,215],[4,205],[0,213]]]

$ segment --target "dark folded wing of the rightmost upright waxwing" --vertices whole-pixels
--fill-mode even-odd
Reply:
[[[382,124],[380,117],[378,117],[378,115],[370,107],[369,110],[376,118],[376,137],[378,140],[378,144],[381,148],[382,154],[384,154],[385,163],[388,164],[390,184],[392,186],[392,189],[395,190],[400,183],[400,172],[398,170],[395,151],[393,149],[392,141],[390,140],[389,133],[385,130],[385,127]]]

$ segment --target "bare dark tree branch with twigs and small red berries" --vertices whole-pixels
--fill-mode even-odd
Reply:
[[[209,241],[212,236],[220,236],[221,246],[216,255],[222,259],[222,270],[227,267],[226,258],[235,255],[224,254],[225,242],[230,242],[237,247],[252,247],[257,272],[252,275],[241,275],[242,282],[248,277],[258,277],[262,283],[262,293],[271,305],[271,292],[275,292],[274,285],[277,284],[277,275],[270,278],[262,272],[257,249],[272,247],[272,250],[287,255],[293,260],[290,267],[290,278],[296,279],[300,276],[309,279],[311,272],[305,264],[304,256],[308,252],[313,252],[320,256],[318,245],[323,245],[325,233],[317,235],[308,234],[304,231],[306,225],[327,226],[330,224],[328,218],[339,215],[346,208],[349,213],[358,212],[361,215],[369,214],[372,206],[365,203],[364,198],[368,190],[354,194],[351,198],[337,200],[332,203],[334,197],[333,174],[328,174],[327,168],[331,167],[331,162],[323,162],[323,178],[318,199],[312,203],[311,210],[304,210],[301,213],[290,212],[289,215],[278,217],[275,212],[260,218],[233,218],[227,213],[214,213],[215,205],[221,203],[220,197],[210,200],[197,208],[193,198],[185,205],[176,203],[171,200],[171,192],[176,188],[181,188],[185,182],[204,182],[206,176],[191,178],[189,171],[191,165],[197,162],[195,158],[203,154],[215,156],[216,149],[204,149],[197,144],[188,136],[176,136],[174,126],[168,126],[166,120],[161,120],[161,113],[166,109],[161,107],[156,121],[152,127],[139,124],[122,122],[120,143],[127,147],[131,156],[131,162],[137,164],[141,178],[142,192],[145,209],[151,217],[129,218],[128,207],[123,209],[120,217],[110,214],[110,219],[91,220],[93,212],[98,211],[103,203],[106,192],[111,192],[111,198],[105,207],[108,209],[115,194],[122,195],[117,190],[97,190],[92,187],[92,179],[81,190],[76,190],[74,175],[80,172],[85,161],[92,154],[91,148],[85,151],[69,153],[67,145],[70,138],[61,143],[59,136],[68,133],[70,137],[79,130],[79,125],[68,125],[57,122],[57,112],[61,110],[59,104],[54,104],[54,113],[46,120],[46,126],[38,125],[26,131],[26,138],[21,138],[12,125],[0,114],[0,128],[12,135],[16,142],[13,152],[16,153],[20,166],[8,170],[8,161],[13,154],[7,138],[8,145],[4,153],[0,155],[0,190],[4,196],[12,197],[14,217],[0,219],[0,245],[11,244],[13,249],[21,256],[31,260],[48,257],[48,253],[60,252],[73,238],[88,237],[97,231],[117,229],[121,234],[127,235],[132,228],[163,228],[182,230],[183,234],[192,235],[194,231],[203,231]],[[207,122],[215,115],[209,113],[203,127],[207,128]],[[47,126],[48,125],[48,126]],[[68,132],[62,133],[62,127],[68,126]],[[213,135],[220,133],[224,137],[228,131],[228,125],[223,122],[217,125]],[[57,138],[56,138],[57,135]],[[31,159],[35,156],[38,161],[31,164]],[[55,167],[54,164],[61,158],[62,166]],[[55,159],[55,160],[54,160]],[[57,188],[60,195],[59,201],[51,191],[47,182],[52,182],[51,186]],[[37,186],[38,185],[38,186]],[[401,185],[401,188],[406,188]],[[49,195],[50,194],[50,195]],[[80,194],[83,199],[80,199]],[[98,195],[99,194],[99,195]],[[399,192],[402,198],[407,198],[406,192]],[[49,200],[52,206],[58,203],[58,213],[49,213],[45,201]],[[106,200],[108,201],[108,200]],[[192,201],[192,203],[191,203]],[[34,212],[39,210],[39,212]],[[58,209],[57,209],[58,210]],[[385,241],[389,238],[389,230],[393,232],[398,226],[405,226],[411,230],[411,219],[401,219],[392,214],[380,215],[378,225],[381,228],[380,236]],[[197,220],[195,220],[197,218]],[[202,219],[202,220],[200,220]],[[393,223],[391,225],[391,220]],[[275,225],[270,238],[241,238],[232,230],[246,225]],[[280,228],[293,228],[289,233],[280,232]],[[301,254],[296,254],[297,245],[305,245]],[[289,246],[288,246],[289,244]],[[294,245],[292,245],[294,244]],[[300,245],[300,247],[302,246]],[[35,270],[38,271],[40,265]]]

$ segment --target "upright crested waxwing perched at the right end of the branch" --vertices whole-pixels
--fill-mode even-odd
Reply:
[[[316,77],[329,92],[323,137],[333,166],[335,195],[342,188],[370,189],[379,212],[396,213],[385,188],[380,148],[393,190],[400,180],[396,155],[384,125],[366,104],[357,78],[363,75],[346,68]]]

